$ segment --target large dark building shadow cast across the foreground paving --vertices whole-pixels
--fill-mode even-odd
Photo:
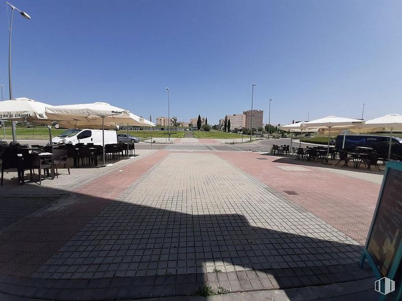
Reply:
[[[301,219],[280,231],[273,230],[284,226],[275,225],[278,217],[266,229],[241,214],[189,214],[139,205],[135,196],[119,201],[29,184],[21,194],[25,187],[34,195],[70,195],[0,233],[3,293],[139,298],[205,286],[235,292],[372,277],[358,267],[362,247],[318,219],[314,229],[304,229]]]

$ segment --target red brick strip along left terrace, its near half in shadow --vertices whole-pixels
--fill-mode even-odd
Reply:
[[[164,151],[153,153],[122,167],[123,171],[117,169],[99,177],[73,192],[80,193],[77,202],[59,210],[43,211],[40,216],[32,216],[0,234],[0,272],[16,276],[31,275],[166,154]],[[46,193],[47,189],[52,188],[43,189]]]

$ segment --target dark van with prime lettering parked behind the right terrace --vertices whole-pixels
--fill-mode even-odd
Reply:
[[[343,135],[338,135],[335,142],[337,151],[342,149]],[[388,158],[389,136],[346,135],[345,150],[354,151],[356,146],[371,147],[380,158]],[[402,139],[392,137],[391,159],[402,160]]]

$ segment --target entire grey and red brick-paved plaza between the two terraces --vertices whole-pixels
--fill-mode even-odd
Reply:
[[[358,262],[381,175],[213,147],[139,150],[111,167],[60,169],[41,186],[7,174],[0,296],[147,298],[210,286],[266,291],[256,299],[376,297]]]

